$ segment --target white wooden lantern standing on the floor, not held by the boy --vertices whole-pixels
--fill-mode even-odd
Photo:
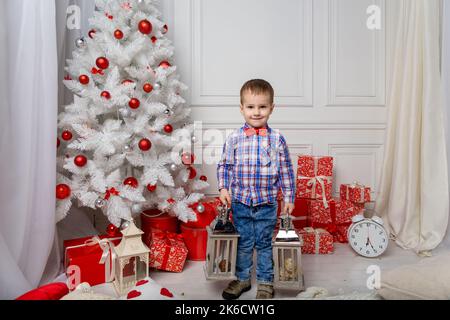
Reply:
[[[139,280],[148,277],[150,249],[142,242],[144,232],[133,221],[122,230],[122,241],[114,248],[114,287],[119,295],[126,294]]]

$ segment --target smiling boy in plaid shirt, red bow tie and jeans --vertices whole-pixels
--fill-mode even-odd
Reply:
[[[277,222],[277,193],[281,187],[284,212],[292,213],[295,180],[286,140],[267,125],[274,109],[273,98],[273,88],[265,80],[244,84],[240,108],[245,125],[227,138],[217,166],[220,200],[231,205],[233,222],[240,234],[237,280],[223,291],[224,299],[237,299],[251,289],[254,248],[256,298],[270,299],[274,295],[272,235]]]

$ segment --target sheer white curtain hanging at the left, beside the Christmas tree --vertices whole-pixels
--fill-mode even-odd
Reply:
[[[55,1],[0,1],[0,24],[0,299],[13,299],[40,283],[55,235]]]

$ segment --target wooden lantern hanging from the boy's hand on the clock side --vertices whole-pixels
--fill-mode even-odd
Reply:
[[[291,227],[291,221],[287,217],[287,222],[282,223],[286,228],[287,238],[277,238],[274,235],[272,239],[273,261],[274,261],[274,281],[275,289],[287,289],[303,291],[305,289],[305,280],[302,267],[302,245],[301,236]],[[283,230],[282,230],[283,231]],[[291,238],[291,234],[294,237]]]

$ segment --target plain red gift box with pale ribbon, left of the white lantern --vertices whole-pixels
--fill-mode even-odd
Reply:
[[[64,265],[67,276],[75,276],[77,279],[75,273],[79,270],[80,278],[77,280],[80,283],[87,282],[91,286],[113,281],[115,261],[112,251],[113,246],[118,245],[121,239],[122,237],[101,235],[65,240]],[[74,267],[77,268],[73,269]]]

